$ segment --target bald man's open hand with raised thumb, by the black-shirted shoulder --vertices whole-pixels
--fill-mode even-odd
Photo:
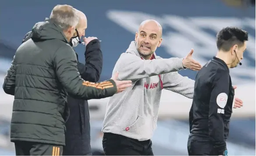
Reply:
[[[194,52],[194,49],[191,49],[190,52],[188,53],[188,55],[185,57],[185,59],[182,60],[182,65],[185,68],[199,71],[203,66],[201,66],[201,64],[199,62],[197,62],[196,60],[194,60],[192,58],[193,52]]]

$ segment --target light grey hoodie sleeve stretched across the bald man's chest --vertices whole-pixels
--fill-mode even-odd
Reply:
[[[144,60],[126,52],[117,60],[114,71],[119,72],[120,80],[134,81],[184,69],[182,60],[179,58]]]

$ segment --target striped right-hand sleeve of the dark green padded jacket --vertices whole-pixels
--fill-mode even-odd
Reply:
[[[78,72],[75,52],[69,45],[62,46],[55,52],[53,62],[58,80],[75,97],[84,100],[100,99],[113,96],[117,92],[114,80],[101,83],[83,80]]]

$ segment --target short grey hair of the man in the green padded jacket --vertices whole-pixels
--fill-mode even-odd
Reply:
[[[57,5],[53,8],[50,19],[55,21],[60,28],[66,30],[70,27],[76,27],[79,21],[79,14],[70,5]]]

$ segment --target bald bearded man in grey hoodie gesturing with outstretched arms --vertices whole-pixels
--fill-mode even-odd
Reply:
[[[153,155],[150,138],[156,128],[162,89],[193,98],[194,80],[181,69],[200,70],[192,59],[162,59],[155,54],[162,42],[162,27],[154,20],[143,21],[114,67],[120,80],[132,80],[132,87],[110,97],[103,121],[103,150],[106,155]]]

